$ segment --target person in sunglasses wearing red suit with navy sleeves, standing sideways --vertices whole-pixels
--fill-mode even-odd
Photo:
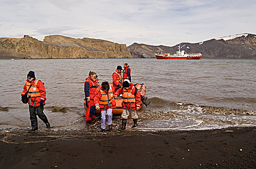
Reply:
[[[86,108],[85,119],[86,123],[91,124],[95,120],[96,108],[94,105],[94,97],[96,95],[96,88],[98,87],[97,74],[94,71],[89,72],[89,76],[84,82],[84,104]]]

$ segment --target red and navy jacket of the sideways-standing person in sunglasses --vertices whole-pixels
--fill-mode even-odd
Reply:
[[[96,88],[98,87],[97,79],[94,81],[90,76],[84,82],[84,94],[86,99],[94,99],[96,95]]]

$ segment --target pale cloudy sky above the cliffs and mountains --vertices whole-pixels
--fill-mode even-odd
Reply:
[[[174,46],[256,34],[256,0],[0,0],[0,37]]]

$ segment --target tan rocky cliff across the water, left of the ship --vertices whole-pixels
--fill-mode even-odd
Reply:
[[[128,58],[126,44],[98,39],[75,39],[61,35],[38,41],[23,38],[0,38],[0,58]]]

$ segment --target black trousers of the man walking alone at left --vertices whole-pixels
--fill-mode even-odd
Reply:
[[[46,124],[48,123],[48,119],[44,113],[44,106],[37,106],[33,107],[29,105],[29,111],[30,111],[30,121],[31,121],[31,127],[32,129],[37,129],[37,117],[38,117]]]

